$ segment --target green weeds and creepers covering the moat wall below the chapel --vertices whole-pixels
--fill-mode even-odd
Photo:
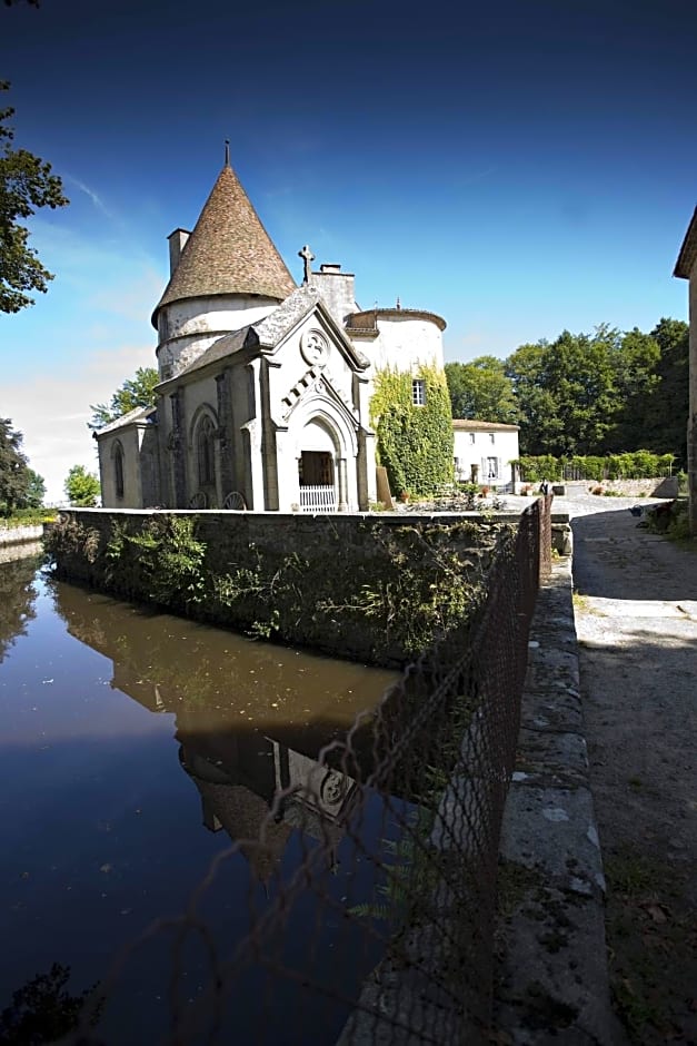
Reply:
[[[467,620],[496,540],[496,527],[487,535],[470,522],[364,523],[365,545],[347,547],[329,527],[310,562],[250,543],[245,531],[231,532],[213,554],[199,523],[196,515],[158,513],[113,521],[100,539],[66,516],[49,544],[61,576],[114,595],[255,638],[401,664]]]

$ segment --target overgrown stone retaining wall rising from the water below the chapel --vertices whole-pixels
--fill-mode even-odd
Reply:
[[[517,519],[69,510],[48,546],[66,580],[212,624],[394,667],[461,622],[467,592],[474,599],[481,590],[499,532]],[[167,527],[168,520],[188,521],[205,552],[190,542],[178,547],[176,540],[155,550],[146,537],[143,546],[149,527]],[[198,556],[190,571],[187,550],[192,561]]]

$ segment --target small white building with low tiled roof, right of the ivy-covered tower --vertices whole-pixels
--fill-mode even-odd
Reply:
[[[456,418],[452,431],[456,480],[512,490],[518,425]]]

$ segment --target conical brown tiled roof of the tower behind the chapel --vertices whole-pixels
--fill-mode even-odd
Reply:
[[[179,264],[152,314],[181,298],[260,294],[286,298],[296,284],[261,225],[232,168],[226,164],[206,200]]]

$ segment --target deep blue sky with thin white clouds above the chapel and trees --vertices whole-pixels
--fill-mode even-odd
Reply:
[[[248,10],[245,10],[248,7]],[[687,318],[694,0],[42,0],[0,6],[47,295],[0,316],[0,415],[50,500],[96,467],[89,404],[155,363],[167,235],[231,160],[291,272],[442,315],[446,358]]]

